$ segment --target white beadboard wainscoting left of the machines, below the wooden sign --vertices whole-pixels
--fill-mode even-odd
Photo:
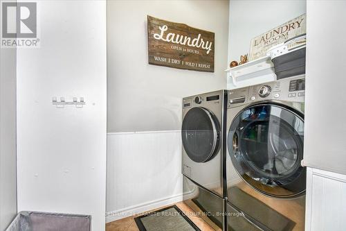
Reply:
[[[107,216],[126,216],[183,199],[180,130],[107,134]]]

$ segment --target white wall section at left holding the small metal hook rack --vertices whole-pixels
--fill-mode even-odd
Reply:
[[[41,46],[17,51],[18,210],[91,214],[104,230],[106,2],[37,4]]]

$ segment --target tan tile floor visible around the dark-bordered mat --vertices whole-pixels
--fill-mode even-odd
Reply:
[[[181,209],[181,211],[185,212],[190,220],[197,225],[200,230],[203,231],[215,231],[210,225],[208,225],[201,217],[194,215],[192,209],[185,205],[183,202],[176,203],[176,206]],[[157,209],[154,209],[157,210]],[[138,215],[139,216],[139,215]],[[106,231],[139,231],[134,221],[136,216],[129,216],[125,219],[121,219],[118,221],[113,221],[111,223],[106,224]]]

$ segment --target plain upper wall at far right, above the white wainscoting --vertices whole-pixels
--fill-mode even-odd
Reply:
[[[346,28],[340,24],[346,22],[345,9],[346,1],[307,3],[304,140],[305,165],[342,174],[346,174]]]

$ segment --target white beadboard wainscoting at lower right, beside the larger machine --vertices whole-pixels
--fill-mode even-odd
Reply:
[[[346,228],[346,176],[307,168],[305,230],[343,231]]]

